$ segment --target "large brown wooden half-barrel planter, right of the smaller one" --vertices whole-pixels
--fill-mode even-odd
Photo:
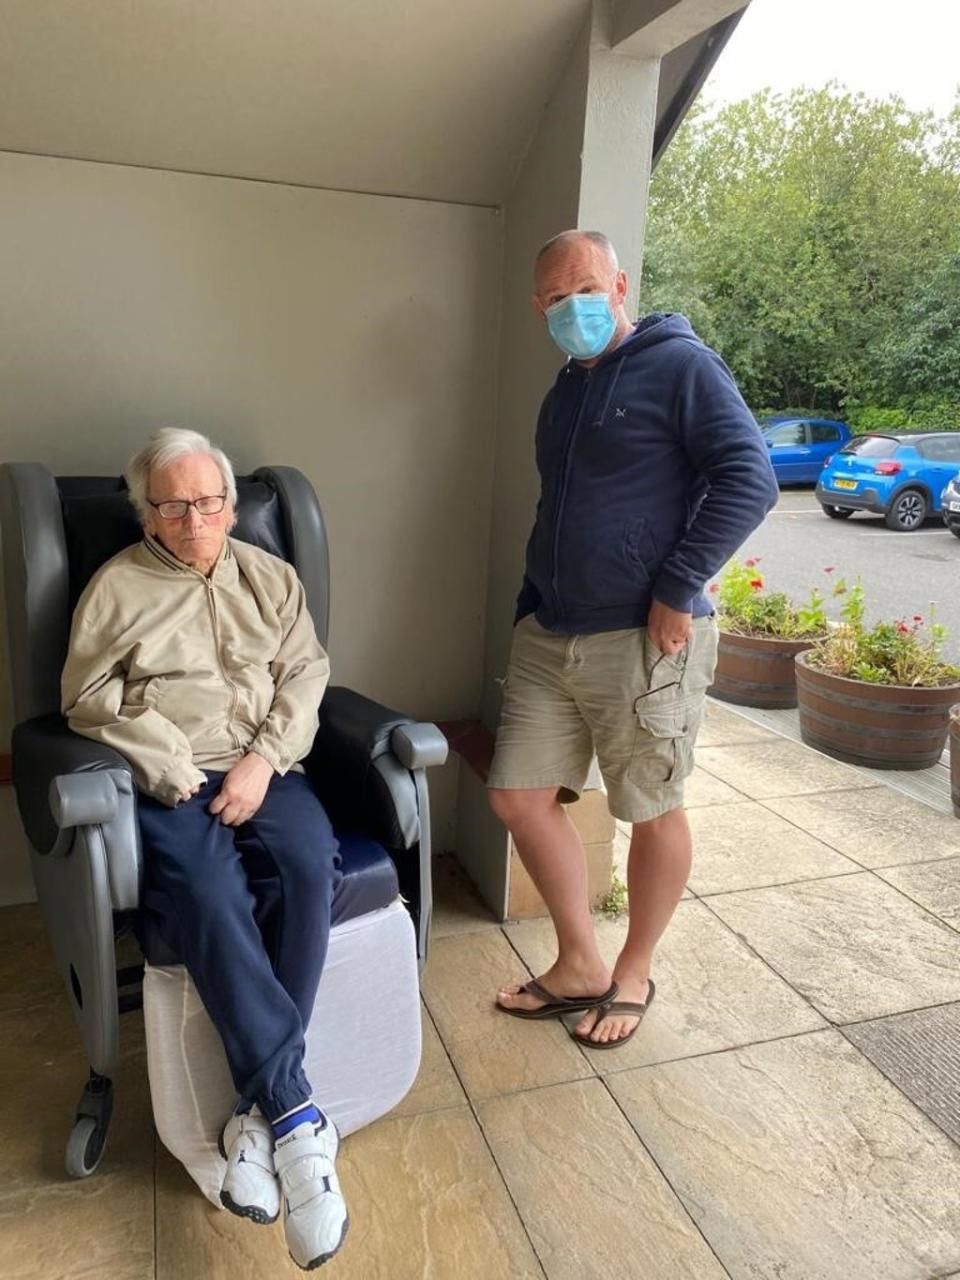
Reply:
[[[928,769],[950,731],[960,685],[870,685],[817,671],[796,658],[800,736],[837,760],[870,769]]]

